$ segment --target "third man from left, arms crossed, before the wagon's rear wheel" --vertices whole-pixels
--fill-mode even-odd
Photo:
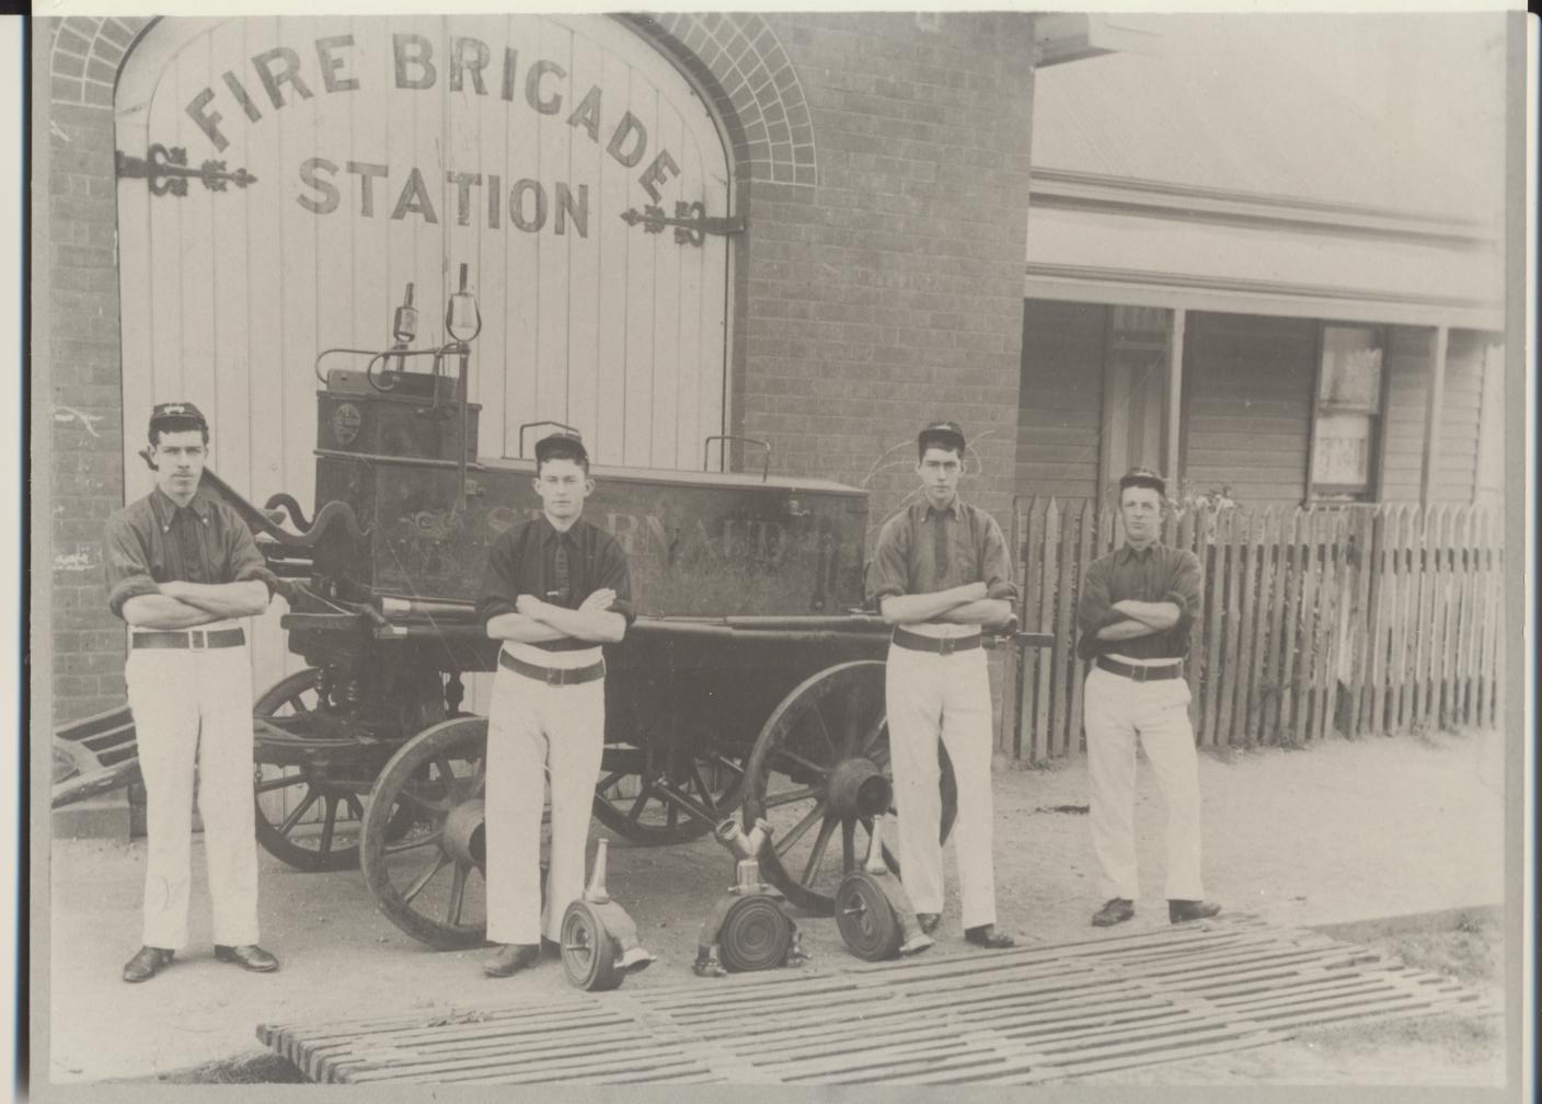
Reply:
[[[958,780],[954,848],[964,937],[1012,947],[996,930],[992,859],[990,678],[981,626],[1005,626],[1018,597],[996,520],[958,493],[964,430],[936,421],[917,438],[921,500],[891,517],[873,552],[871,598],[894,635],[885,698],[899,814],[899,867],[921,930],[942,914],[938,739]]]

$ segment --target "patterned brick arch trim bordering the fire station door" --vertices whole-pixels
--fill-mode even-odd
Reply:
[[[817,182],[808,100],[786,51],[756,12],[625,15],[709,94],[739,179]],[[54,103],[108,109],[117,71],[148,17],[72,15],[59,25],[49,66]]]

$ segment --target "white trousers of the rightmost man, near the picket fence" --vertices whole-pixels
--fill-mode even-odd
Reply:
[[[1201,900],[1200,774],[1189,723],[1189,683],[1138,683],[1093,668],[1084,709],[1092,782],[1092,848],[1101,894],[1136,900],[1135,740],[1140,737],[1167,806],[1167,899]]]

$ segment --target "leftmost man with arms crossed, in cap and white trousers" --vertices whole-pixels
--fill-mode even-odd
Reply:
[[[200,487],[208,422],[191,402],[150,415],[156,489],[108,518],[108,608],[130,626],[128,705],[145,777],[143,947],[123,967],[142,982],[187,944],[193,768],[214,907],[214,958],[267,973],[258,947],[251,663],[241,618],[268,608],[276,580],[251,530]]]

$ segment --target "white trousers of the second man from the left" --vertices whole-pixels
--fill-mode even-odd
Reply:
[[[583,896],[594,785],[604,751],[604,680],[546,683],[498,668],[487,712],[487,939],[561,936]],[[541,808],[552,791],[552,853],[541,908]]]

